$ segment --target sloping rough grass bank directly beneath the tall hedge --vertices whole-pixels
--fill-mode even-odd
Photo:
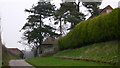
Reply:
[[[54,56],[80,57],[118,63],[118,41],[95,43],[81,48],[60,51]]]

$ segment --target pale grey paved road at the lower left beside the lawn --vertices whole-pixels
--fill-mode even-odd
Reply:
[[[25,62],[25,60],[10,60],[10,68],[35,68],[32,65]]]

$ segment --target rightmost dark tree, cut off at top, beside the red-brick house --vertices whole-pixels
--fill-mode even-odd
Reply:
[[[90,18],[93,18],[99,15],[99,6],[101,5],[101,2],[83,2],[82,4],[90,12],[91,14]]]

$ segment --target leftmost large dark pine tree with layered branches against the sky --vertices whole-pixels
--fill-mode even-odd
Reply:
[[[55,6],[50,2],[38,2],[37,6],[33,6],[31,9],[25,9],[25,12],[29,12],[28,22],[23,26],[24,31],[23,40],[27,40],[29,44],[34,46],[40,46],[45,37],[54,37],[58,35],[53,32],[53,27],[45,25],[43,19],[53,16]]]

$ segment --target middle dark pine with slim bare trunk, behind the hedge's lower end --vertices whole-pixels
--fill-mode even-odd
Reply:
[[[71,23],[69,29],[72,29],[80,21],[85,20],[85,15],[78,11],[78,5],[75,2],[65,2],[55,12],[54,19],[56,20],[55,24],[60,23],[60,34],[62,34],[62,22],[64,24]]]

